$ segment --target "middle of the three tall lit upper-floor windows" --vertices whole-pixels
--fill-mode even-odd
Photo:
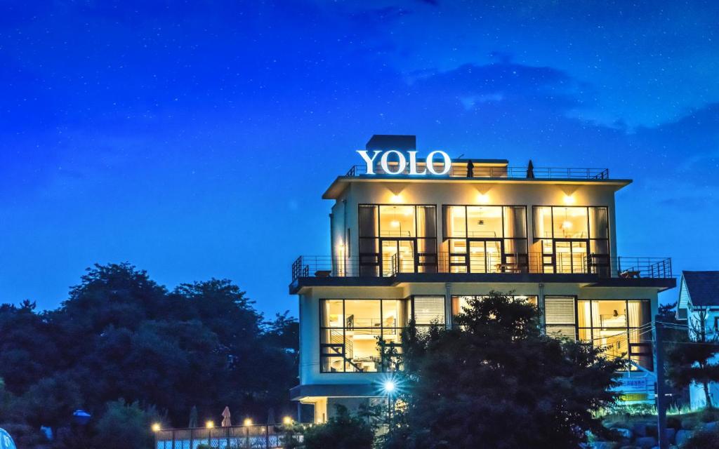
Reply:
[[[446,272],[528,271],[525,206],[445,205],[442,216]]]

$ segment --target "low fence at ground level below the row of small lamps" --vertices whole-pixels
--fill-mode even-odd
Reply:
[[[290,439],[301,441],[302,435],[281,425],[163,429],[155,432],[155,449],[196,449],[201,444],[222,449],[274,449],[284,448]]]

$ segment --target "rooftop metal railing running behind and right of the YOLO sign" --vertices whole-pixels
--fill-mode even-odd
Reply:
[[[388,175],[380,165],[374,167],[375,175]],[[424,167],[420,165],[419,171]],[[437,167],[437,170],[443,170]],[[358,177],[367,175],[365,165],[354,165],[347,171],[347,177]],[[401,173],[390,173],[390,175],[409,175],[407,167]],[[520,179],[541,179],[541,180],[606,180],[609,179],[608,168],[567,168],[567,167],[534,167],[528,170],[527,167],[471,167],[467,164],[452,165],[446,177],[508,177]]]

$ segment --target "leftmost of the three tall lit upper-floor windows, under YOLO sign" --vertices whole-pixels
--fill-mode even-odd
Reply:
[[[436,270],[436,206],[359,205],[361,276]]]

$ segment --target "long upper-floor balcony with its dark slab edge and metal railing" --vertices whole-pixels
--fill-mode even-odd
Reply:
[[[290,292],[302,285],[390,285],[393,282],[585,282],[604,287],[675,287],[672,259],[662,257],[548,256],[541,253],[300,256]],[[342,281],[344,279],[344,281]]]

